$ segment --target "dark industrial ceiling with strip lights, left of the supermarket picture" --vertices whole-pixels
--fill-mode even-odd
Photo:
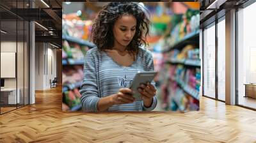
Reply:
[[[1,29],[7,32],[4,36],[1,33],[1,38],[16,40],[16,36],[19,39],[26,35],[24,34],[28,32],[28,28],[26,28],[28,22],[26,21],[32,20],[38,23],[35,24],[36,42],[50,42],[61,47],[61,6],[63,1],[0,0]]]

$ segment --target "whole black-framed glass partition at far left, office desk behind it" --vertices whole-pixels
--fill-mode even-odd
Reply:
[[[26,3],[0,2],[11,4],[12,10],[26,8]],[[3,8],[0,11],[0,114],[3,114],[29,103],[29,22]]]

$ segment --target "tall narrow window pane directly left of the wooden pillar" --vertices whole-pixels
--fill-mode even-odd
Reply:
[[[225,101],[225,19],[218,23],[218,99]]]

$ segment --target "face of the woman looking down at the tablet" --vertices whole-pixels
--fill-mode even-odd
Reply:
[[[113,27],[114,46],[126,47],[132,41],[136,32],[136,19],[132,15],[122,15]]]

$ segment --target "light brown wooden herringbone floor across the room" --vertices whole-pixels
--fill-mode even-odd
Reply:
[[[256,112],[202,97],[185,114],[63,113],[58,87],[1,115],[0,142],[256,142]]]

